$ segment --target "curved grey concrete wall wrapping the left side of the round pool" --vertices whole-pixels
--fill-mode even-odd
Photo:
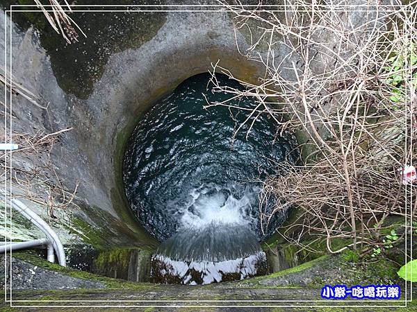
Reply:
[[[80,14],[74,12],[72,17],[81,19]],[[76,206],[68,209],[72,222],[67,227],[62,226],[63,232],[71,231],[81,241],[97,248],[152,250],[158,245],[133,216],[122,185],[126,141],[154,101],[186,78],[213,69],[212,64],[219,60],[236,78],[252,83],[257,83],[257,77],[263,72],[261,64],[238,53],[236,39],[243,46],[247,44],[242,36],[235,37],[234,24],[227,12],[167,12],[161,16],[153,15],[147,21],[152,24],[149,30],[133,30],[148,32],[143,36],[133,34],[139,41],[126,43],[123,36],[119,41],[111,40],[112,48],[97,65],[99,69],[97,75],[92,75],[92,84],[83,82],[83,77],[77,74],[83,66],[72,63],[85,58],[85,49],[76,51],[77,45],[74,45],[67,46],[65,53],[53,51],[52,47],[58,42],[45,41],[42,31],[38,32],[45,27],[38,23],[41,18],[26,16],[25,27],[12,24],[13,76],[35,92],[42,104],[50,103],[45,111],[19,94],[13,94],[16,117],[13,128],[29,134],[73,128],[61,135],[51,150],[50,159],[59,181],[54,172],[49,176],[68,191],[79,185],[74,200]],[[3,19],[4,15],[1,27]],[[103,23],[106,22],[104,18]],[[30,27],[31,23],[35,26]],[[103,23],[86,27],[107,27]],[[97,29],[90,31],[95,33]],[[103,40],[96,43],[102,44],[103,49],[110,44],[105,37],[90,35],[88,40]],[[72,51],[71,62],[67,60],[68,51]],[[86,53],[88,55],[89,51]],[[70,80],[78,81],[79,87],[85,87],[88,92],[79,94],[73,83],[68,87],[65,81]],[[14,154],[14,159],[15,166],[22,168],[30,162],[19,152]],[[44,196],[47,190],[39,193]]]

